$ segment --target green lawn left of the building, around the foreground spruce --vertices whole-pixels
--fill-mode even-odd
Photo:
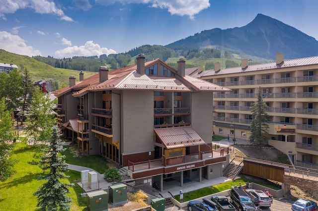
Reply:
[[[68,147],[69,148],[69,147]],[[43,174],[43,171],[38,165],[31,165],[28,162],[34,160],[33,155],[36,153],[34,147],[28,146],[25,143],[17,143],[13,153],[13,158],[18,159],[14,169],[16,173],[9,177],[5,182],[0,182],[0,211],[34,211],[37,209],[37,198],[33,193],[46,181],[38,181],[38,177]],[[100,173],[108,168],[107,161],[99,156],[73,157],[73,154],[65,153],[67,160],[73,164],[84,165],[96,169]],[[103,164],[100,164],[100,163]],[[93,164],[96,163],[96,164]],[[96,167],[96,165],[100,167]],[[86,199],[80,197],[82,193],[81,187],[77,184],[80,181],[80,172],[70,170],[67,175],[70,178],[63,182],[75,183],[75,186],[70,188],[69,196],[73,200],[72,211],[86,210]]]

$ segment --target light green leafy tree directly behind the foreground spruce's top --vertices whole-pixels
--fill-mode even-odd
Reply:
[[[45,144],[50,136],[52,127],[56,125],[55,101],[49,95],[44,95],[41,90],[36,90],[32,95],[29,105],[28,118],[25,121],[25,131],[33,139],[34,144]]]

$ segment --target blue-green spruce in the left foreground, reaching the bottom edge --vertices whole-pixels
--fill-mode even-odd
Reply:
[[[52,128],[52,140],[49,141],[49,149],[45,150],[45,155],[40,160],[43,171],[50,170],[47,175],[40,176],[38,180],[47,180],[39,189],[33,193],[37,197],[37,207],[40,211],[68,211],[71,208],[72,199],[67,196],[69,187],[74,184],[63,183],[61,180],[69,178],[64,174],[68,172],[68,164],[65,163],[60,131]]]

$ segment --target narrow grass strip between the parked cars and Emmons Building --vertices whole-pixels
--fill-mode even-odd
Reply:
[[[253,181],[251,179],[247,179],[245,177],[240,177],[239,179],[236,179],[234,181],[229,181],[229,182],[224,182],[224,183],[221,183],[221,184],[217,184],[217,185],[212,185],[212,186],[209,186],[209,187],[205,187],[205,188],[201,188],[201,189],[198,189],[198,190],[194,190],[194,191],[190,191],[190,192],[187,192],[187,193],[183,193],[183,202],[186,202],[186,201],[191,201],[191,200],[194,200],[194,199],[197,199],[197,198],[200,198],[200,197],[204,197],[204,196],[207,196],[207,195],[210,195],[210,194],[214,194],[214,193],[218,193],[218,192],[221,192],[221,191],[225,191],[225,190],[229,190],[231,189],[231,186],[239,186],[239,182],[241,182],[242,185],[244,185],[246,182],[250,182],[250,183],[257,183],[259,185],[263,185],[265,187],[268,187],[268,188],[272,188],[274,190],[279,190],[280,187],[278,186],[274,186],[274,185],[269,185],[269,184],[266,184],[266,183],[262,183],[262,182],[259,182],[259,181]],[[174,196],[175,199],[177,201],[180,202],[180,195],[176,195]]]

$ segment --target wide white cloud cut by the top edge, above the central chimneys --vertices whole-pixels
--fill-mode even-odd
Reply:
[[[194,15],[210,7],[209,0],[95,0],[95,2],[106,6],[116,2],[145,3],[152,7],[167,9],[171,15],[188,15],[190,19],[194,19]]]

